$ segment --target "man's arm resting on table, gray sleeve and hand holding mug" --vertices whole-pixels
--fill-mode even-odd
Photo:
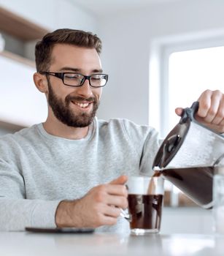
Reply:
[[[123,186],[126,176],[90,189],[80,200],[60,202],[26,199],[23,176],[2,159],[0,168],[0,230],[114,225],[120,216],[120,209],[115,206],[128,206],[127,191]]]

